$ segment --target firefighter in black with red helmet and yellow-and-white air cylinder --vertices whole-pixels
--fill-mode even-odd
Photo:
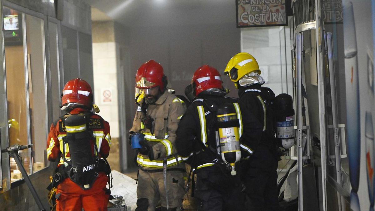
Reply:
[[[197,209],[243,210],[239,169],[236,169],[236,162],[241,157],[239,105],[224,97],[226,92],[220,73],[208,65],[195,71],[191,85],[196,99],[181,118],[175,143],[178,153],[189,157],[187,163],[192,165],[197,176],[194,192],[198,200]],[[223,114],[225,109],[229,112]],[[218,121],[218,117],[222,119]],[[234,120],[231,122],[235,124],[232,127],[225,122],[225,127],[231,128],[217,129],[220,120]],[[221,137],[222,133],[217,132],[220,129],[232,132],[230,138],[233,139]],[[219,141],[221,146],[217,144]],[[228,143],[234,148],[228,149]]]

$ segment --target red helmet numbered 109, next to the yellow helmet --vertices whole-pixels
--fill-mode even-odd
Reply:
[[[223,89],[219,71],[208,65],[203,65],[194,72],[192,83],[195,85],[195,96],[207,89]]]

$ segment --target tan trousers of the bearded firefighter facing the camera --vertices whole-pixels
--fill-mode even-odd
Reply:
[[[185,169],[182,169],[183,171]],[[154,211],[157,204],[161,203],[162,210],[180,210],[185,195],[184,176],[186,172],[181,169],[169,169],[166,172],[166,190],[164,187],[163,171],[149,172],[139,169],[137,187],[137,208],[136,211]]]

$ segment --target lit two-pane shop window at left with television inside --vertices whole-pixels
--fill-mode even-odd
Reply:
[[[3,7],[9,146],[34,144],[20,152],[28,174],[47,166],[48,134],[43,20]],[[22,177],[10,158],[11,181]]]

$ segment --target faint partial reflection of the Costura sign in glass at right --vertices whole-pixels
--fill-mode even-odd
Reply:
[[[323,20],[324,23],[342,23],[342,0],[323,0]]]

